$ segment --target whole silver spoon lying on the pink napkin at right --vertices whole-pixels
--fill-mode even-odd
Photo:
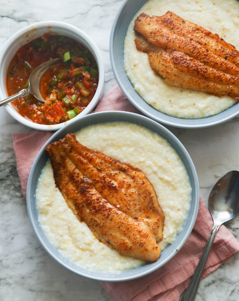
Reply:
[[[195,299],[203,269],[219,227],[233,219],[239,212],[239,171],[230,171],[216,182],[209,195],[208,207],[213,218],[213,229],[193,277],[179,301]]]

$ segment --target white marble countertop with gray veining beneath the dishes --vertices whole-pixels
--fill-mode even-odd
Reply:
[[[100,48],[107,93],[116,84],[109,58],[110,29],[122,0],[0,0],[0,48],[17,30],[43,20],[78,26]],[[55,9],[55,4],[57,8]],[[111,300],[97,281],[69,272],[39,245],[27,216],[17,175],[11,134],[26,132],[0,108],[0,300],[2,301],[105,301]],[[200,194],[207,202],[215,175],[239,169],[239,119],[200,130],[173,129],[197,169]],[[239,216],[227,224],[239,239]],[[196,301],[237,301],[239,254],[201,281]],[[175,300],[177,301],[177,300]]]

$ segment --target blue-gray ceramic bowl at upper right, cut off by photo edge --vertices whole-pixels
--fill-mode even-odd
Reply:
[[[208,126],[215,126],[223,123],[229,119],[234,118],[239,114],[239,102],[234,104],[227,110],[206,118],[200,119],[183,119],[172,117],[161,113],[151,107],[145,102],[137,92],[130,80],[128,79],[124,69],[124,40],[129,27],[129,23],[137,13],[137,11],[144,5],[147,0],[125,0],[119,9],[110,34],[110,61],[114,76],[129,101],[142,113],[148,117],[157,120],[158,122],[167,124],[169,126],[176,126],[180,128],[204,128]]]

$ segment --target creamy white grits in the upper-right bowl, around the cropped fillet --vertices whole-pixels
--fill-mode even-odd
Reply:
[[[179,118],[203,118],[218,114],[235,101],[205,92],[175,87],[157,76],[150,67],[148,55],[135,47],[134,20],[141,12],[163,15],[172,11],[185,20],[218,33],[239,50],[239,2],[236,0],[149,0],[137,12],[126,34],[124,64],[135,91],[156,110]]]

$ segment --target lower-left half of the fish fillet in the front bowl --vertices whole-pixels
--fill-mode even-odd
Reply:
[[[67,134],[64,139],[45,147],[51,160],[55,183],[70,209],[101,242],[121,255],[148,262],[156,261],[161,248],[149,226],[133,219],[102,197],[101,191],[94,185],[94,179],[89,179],[82,172],[83,169],[78,169],[71,160],[69,154],[75,147],[73,144],[79,142],[73,134]]]

